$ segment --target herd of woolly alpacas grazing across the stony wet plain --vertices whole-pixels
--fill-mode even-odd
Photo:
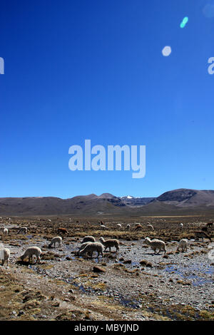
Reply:
[[[99,222],[99,227],[101,230],[108,230],[108,227],[104,225],[103,222]],[[122,230],[121,224],[116,225],[118,230]],[[147,227],[154,231],[154,228],[151,224],[147,225]],[[180,224],[180,227],[183,228],[183,224]],[[210,235],[208,234],[209,229],[213,227],[213,222],[208,222],[201,230],[196,230],[195,233],[195,240],[198,240],[199,238],[203,239],[207,238],[212,242],[212,239]],[[140,223],[136,223],[133,225],[133,231],[141,230],[143,227]],[[9,230],[6,227],[1,227],[1,232],[3,234],[8,234]],[[125,230],[131,230],[131,225],[126,225]],[[26,234],[28,231],[27,227],[20,227],[17,234]],[[68,230],[66,228],[60,227],[57,230],[58,233],[62,234],[68,234]],[[56,236],[51,239],[51,242],[49,243],[49,248],[51,247],[62,247],[62,237]],[[165,248],[165,242],[163,242],[161,239],[150,239],[150,237],[146,237],[143,242],[148,244],[148,246],[153,249],[154,253],[159,254],[161,251],[166,252]],[[78,256],[86,256],[86,257],[93,257],[93,252],[97,252],[97,256],[103,257],[103,252],[106,252],[107,249],[109,252],[111,252],[111,248],[115,248],[116,252],[119,250],[119,240],[118,239],[103,239],[103,237],[100,237],[99,242],[96,242],[95,237],[93,236],[85,236],[82,241],[80,247],[78,247]],[[187,251],[188,248],[188,239],[180,239],[180,242],[178,243],[177,251],[180,252],[180,249],[182,252]],[[39,247],[28,247],[24,254],[22,254],[19,258],[21,261],[24,261],[24,259],[28,258],[29,262],[34,261],[34,257],[36,257],[36,263],[40,263],[41,261],[41,248]],[[4,263],[7,264],[9,262],[10,257],[10,250],[9,248],[0,247],[0,259],[2,260],[1,265],[3,266]]]

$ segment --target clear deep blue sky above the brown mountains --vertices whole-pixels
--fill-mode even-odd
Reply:
[[[214,189],[206,4],[214,2],[2,0],[0,197]],[[146,145],[146,177],[71,172],[68,148],[85,139]]]

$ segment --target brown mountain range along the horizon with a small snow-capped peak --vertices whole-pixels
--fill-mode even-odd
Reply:
[[[1,216],[36,215],[123,215],[214,213],[214,190],[178,189],[159,197],[116,197],[79,195],[68,199],[59,197],[1,197]]]

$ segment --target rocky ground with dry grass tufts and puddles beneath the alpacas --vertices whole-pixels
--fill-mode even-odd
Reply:
[[[17,234],[27,222],[29,232]],[[48,248],[57,225],[1,222],[9,227],[1,243],[11,250],[11,259],[0,268],[0,320],[213,320],[214,259],[208,257],[213,243],[195,241],[192,233],[199,224],[194,222],[183,231],[171,223],[152,223],[155,232],[145,226],[136,234],[118,232],[114,222],[108,232],[79,222],[71,229],[64,222],[69,234],[63,246]],[[86,234],[117,237],[120,249],[103,258],[78,257]],[[146,236],[165,240],[166,254],[154,254],[143,242]],[[176,251],[180,237],[189,237],[187,252]],[[41,264],[19,260],[32,245],[43,251]]]

